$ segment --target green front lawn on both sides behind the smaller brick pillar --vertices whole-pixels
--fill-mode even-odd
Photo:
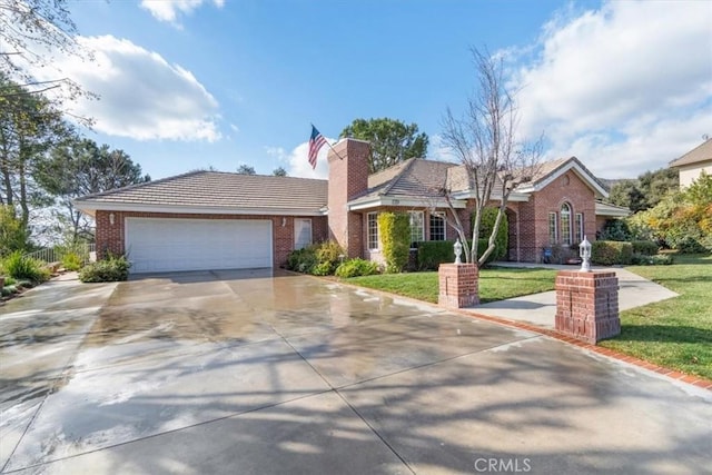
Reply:
[[[506,267],[479,270],[479,301],[483,304],[522,295],[553,290],[556,270]],[[418,300],[437,303],[437,273],[383,274],[354,277],[345,281],[385,290]]]

